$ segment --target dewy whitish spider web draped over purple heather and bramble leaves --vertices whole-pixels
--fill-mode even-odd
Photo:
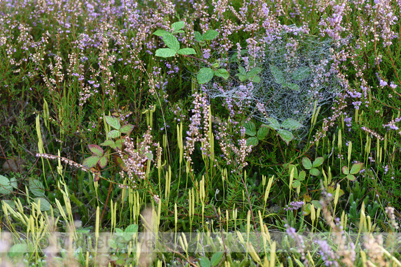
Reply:
[[[337,71],[331,66],[333,41],[322,41],[295,27],[288,29],[292,31],[261,39],[263,48],[254,53],[254,58],[249,50],[242,50],[241,55],[232,53],[224,61],[227,66],[222,64],[230,70],[230,80],[223,83],[215,77],[201,86],[203,91],[211,98],[225,99],[229,105],[250,108],[252,116],[263,123],[268,123],[268,117],[280,122],[291,118],[308,123],[315,101],[317,107],[323,106],[342,90]],[[240,66],[247,73],[261,68],[260,82],[239,81],[234,75]]]

